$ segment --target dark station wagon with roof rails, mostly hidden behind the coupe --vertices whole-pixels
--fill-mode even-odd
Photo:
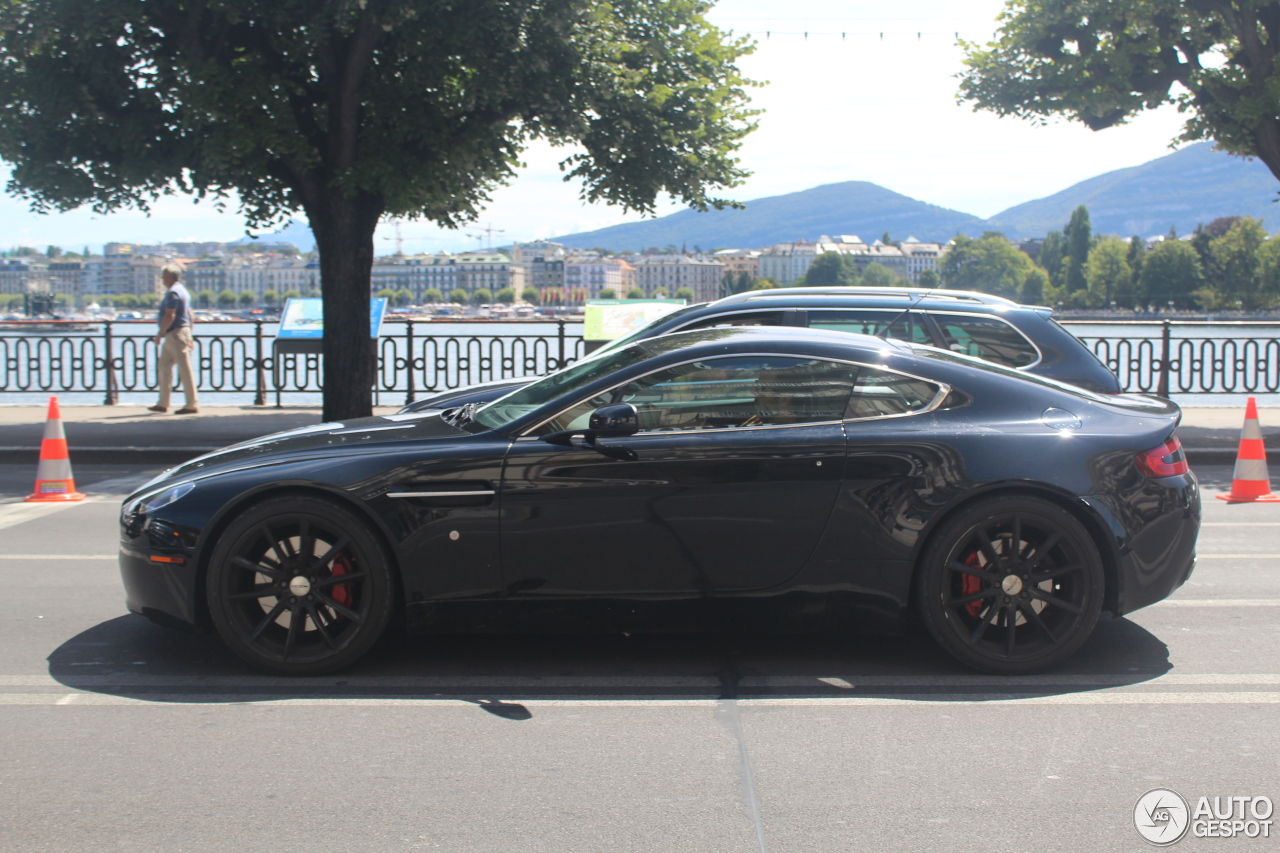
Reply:
[[[613,341],[602,351],[673,332],[723,325],[772,325],[876,334],[925,343],[1105,394],[1120,383],[1080,341],[1053,320],[1053,310],[1001,296],[911,287],[790,287],[750,291],[690,305]],[[530,378],[497,379],[429,394],[401,411],[486,403]]]

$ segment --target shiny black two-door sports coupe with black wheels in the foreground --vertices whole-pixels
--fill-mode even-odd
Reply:
[[[724,328],[484,407],[280,433],[122,510],[129,610],[328,672],[410,631],[899,630],[1061,662],[1190,575],[1199,493],[1153,398],[941,348]]]

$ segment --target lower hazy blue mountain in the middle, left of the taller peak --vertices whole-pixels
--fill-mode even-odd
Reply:
[[[682,210],[553,240],[576,248],[613,251],[671,245],[709,250],[754,248],[822,234],[858,234],[872,242],[886,231],[897,240],[947,241],[957,232],[979,236],[988,229],[978,216],[909,199],[867,181],[828,183],[745,204],[742,210]]]

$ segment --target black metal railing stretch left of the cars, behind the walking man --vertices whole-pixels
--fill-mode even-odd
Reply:
[[[192,369],[201,394],[253,394],[266,405],[274,396],[323,391],[321,356],[275,352],[264,320],[238,324],[243,332],[204,332],[196,324]],[[494,333],[451,333],[448,323],[388,320],[378,341],[375,391],[419,393],[451,391],[480,382],[543,375],[582,357],[579,334],[564,320],[486,323]],[[520,333],[518,328],[554,330]],[[88,329],[83,327],[90,327]],[[430,330],[424,334],[424,327]],[[29,327],[27,327],[29,328]],[[159,347],[150,321],[49,321],[38,332],[19,324],[0,327],[0,393],[101,392],[108,406],[125,392],[156,389]],[[500,329],[502,333],[498,333]]]

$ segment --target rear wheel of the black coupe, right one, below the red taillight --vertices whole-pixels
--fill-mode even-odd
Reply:
[[[1027,496],[980,501],[947,519],[918,573],[920,619],[933,638],[961,662],[1000,675],[1074,654],[1098,621],[1106,583],[1084,525]]]

